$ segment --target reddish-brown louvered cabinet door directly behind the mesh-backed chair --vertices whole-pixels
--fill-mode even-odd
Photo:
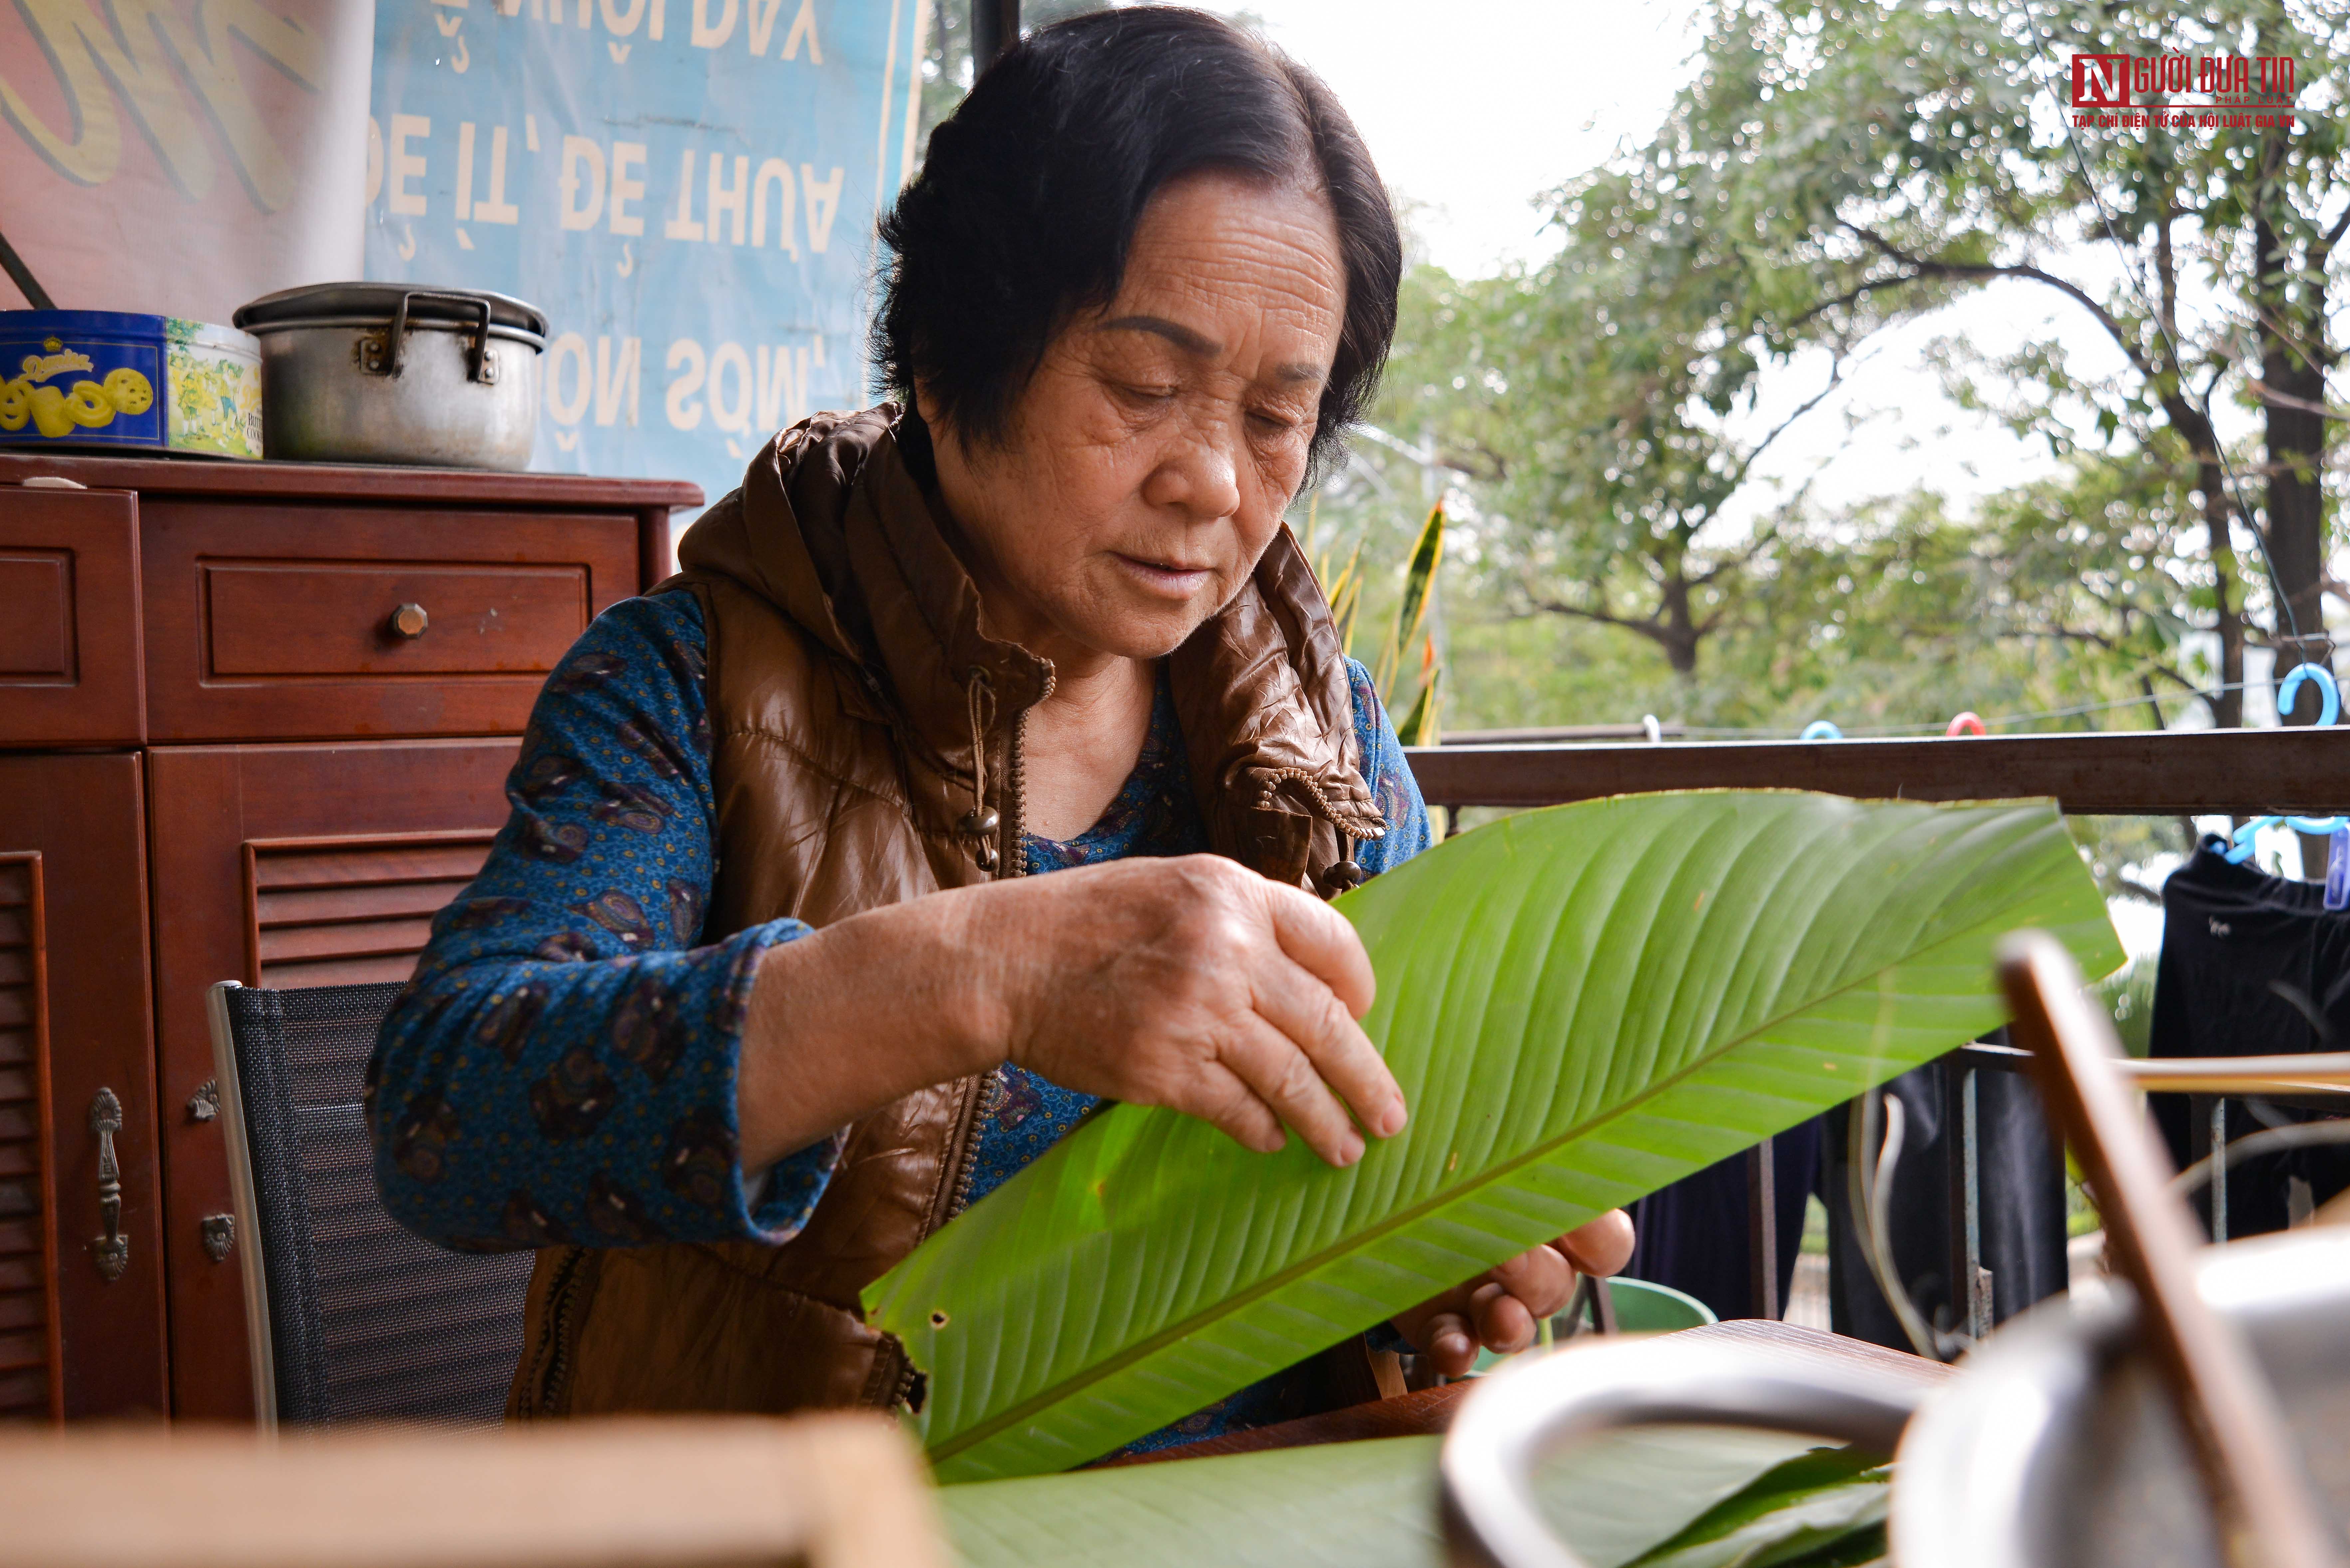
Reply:
[[[432,914],[505,820],[519,741],[164,745],[148,752],[155,851],[155,1056],[164,1105],[172,1408],[249,1420],[244,1291],[226,1215],[204,990],[407,980]],[[244,1246],[235,1239],[230,1246]]]

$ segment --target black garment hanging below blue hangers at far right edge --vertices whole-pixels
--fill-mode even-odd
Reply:
[[[2228,865],[2207,837],[2162,886],[2153,1056],[2287,1056],[2350,1048],[2350,912],[2329,912],[2315,882]],[[2171,1159],[2202,1147],[2193,1124],[2209,1100],[2148,1095]],[[2228,1100],[2230,1140],[2317,1112]],[[2284,1229],[2289,1182],[2324,1204],[2350,1187],[2350,1147],[2287,1150],[2228,1168],[2228,1234]],[[2209,1215],[2204,1206],[2202,1213]]]

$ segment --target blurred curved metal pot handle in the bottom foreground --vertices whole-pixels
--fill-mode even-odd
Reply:
[[[1817,1432],[1892,1453],[1932,1385],[1793,1347],[1661,1335],[1537,1356],[1462,1401],[1438,1460],[1452,1568],[1589,1568],[1535,1505],[1535,1465],[1610,1427]]]

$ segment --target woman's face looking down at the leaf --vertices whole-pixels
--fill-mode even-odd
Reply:
[[[931,418],[996,630],[1053,658],[1161,658],[1229,604],[1304,482],[1344,306],[1318,193],[1222,172],[1161,188],[1119,296],[1046,348],[1003,444]]]

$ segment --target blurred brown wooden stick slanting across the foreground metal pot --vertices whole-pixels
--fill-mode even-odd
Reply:
[[[2012,1039],[2089,1173],[2108,1255],[2138,1293],[2138,1335],[2178,1406],[2211,1490],[2223,1552],[2242,1568],[2341,1568],[2284,1415],[2235,1326],[2195,1288],[2195,1220],[2169,1190],[2169,1159],[2115,1070],[2122,1044],[2082,994],[2070,954],[2040,931],[2000,950]]]

